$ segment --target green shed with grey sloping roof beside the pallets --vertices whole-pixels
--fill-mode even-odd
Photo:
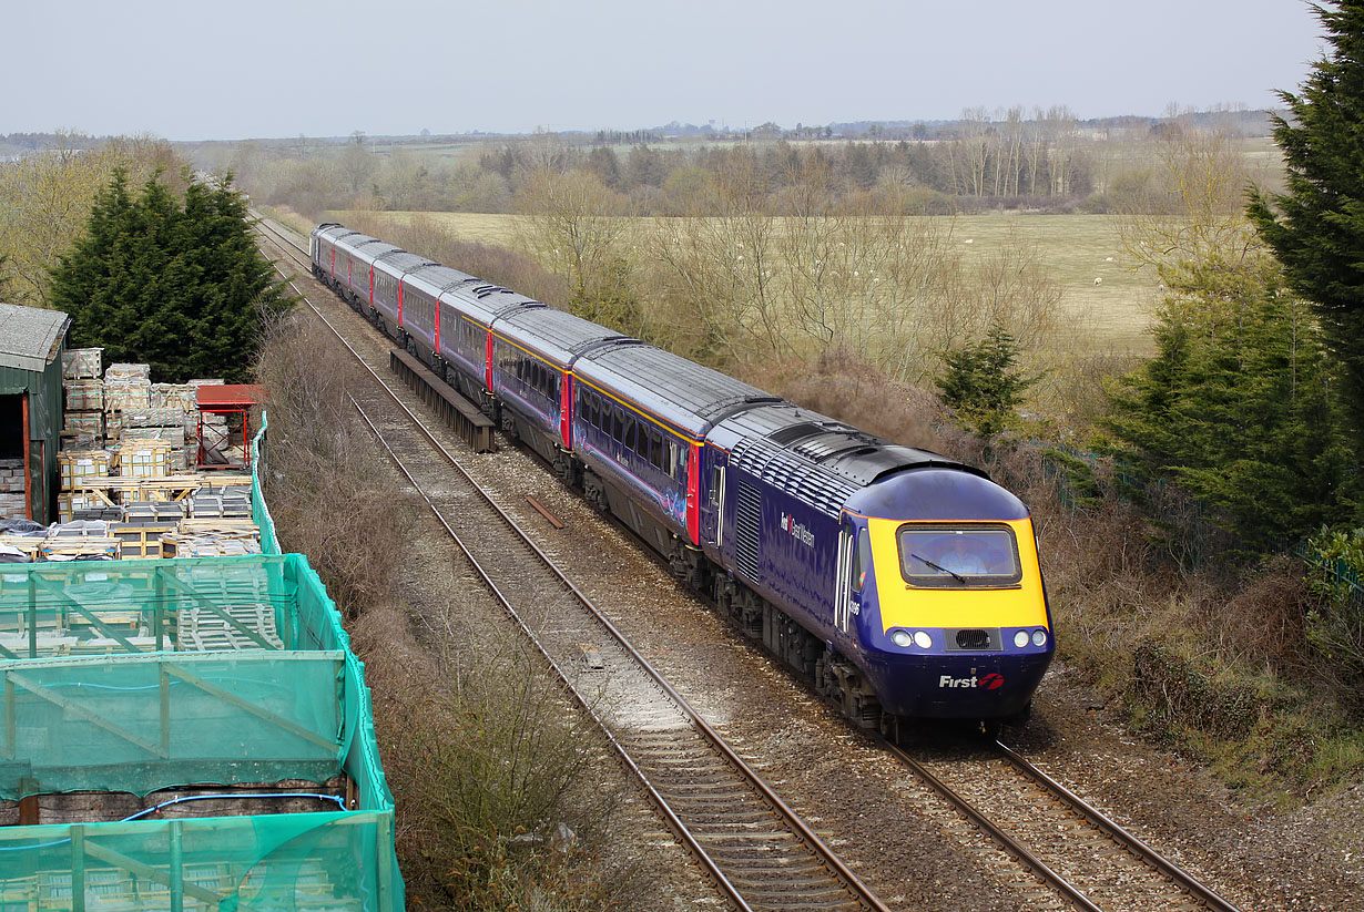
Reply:
[[[0,304],[0,480],[22,469],[8,495],[8,517],[50,522],[61,439],[61,353],[71,318],[18,304]],[[18,480],[11,485],[18,488]]]

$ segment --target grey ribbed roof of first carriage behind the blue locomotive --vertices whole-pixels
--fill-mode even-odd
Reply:
[[[574,361],[573,374],[623,394],[696,438],[737,409],[780,401],[754,386],[642,342],[588,352]]]

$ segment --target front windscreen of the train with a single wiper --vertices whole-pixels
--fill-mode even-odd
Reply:
[[[900,573],[911,586],[1009,586],[1023,578],[1008,526],[904,525],[896,540]]]

